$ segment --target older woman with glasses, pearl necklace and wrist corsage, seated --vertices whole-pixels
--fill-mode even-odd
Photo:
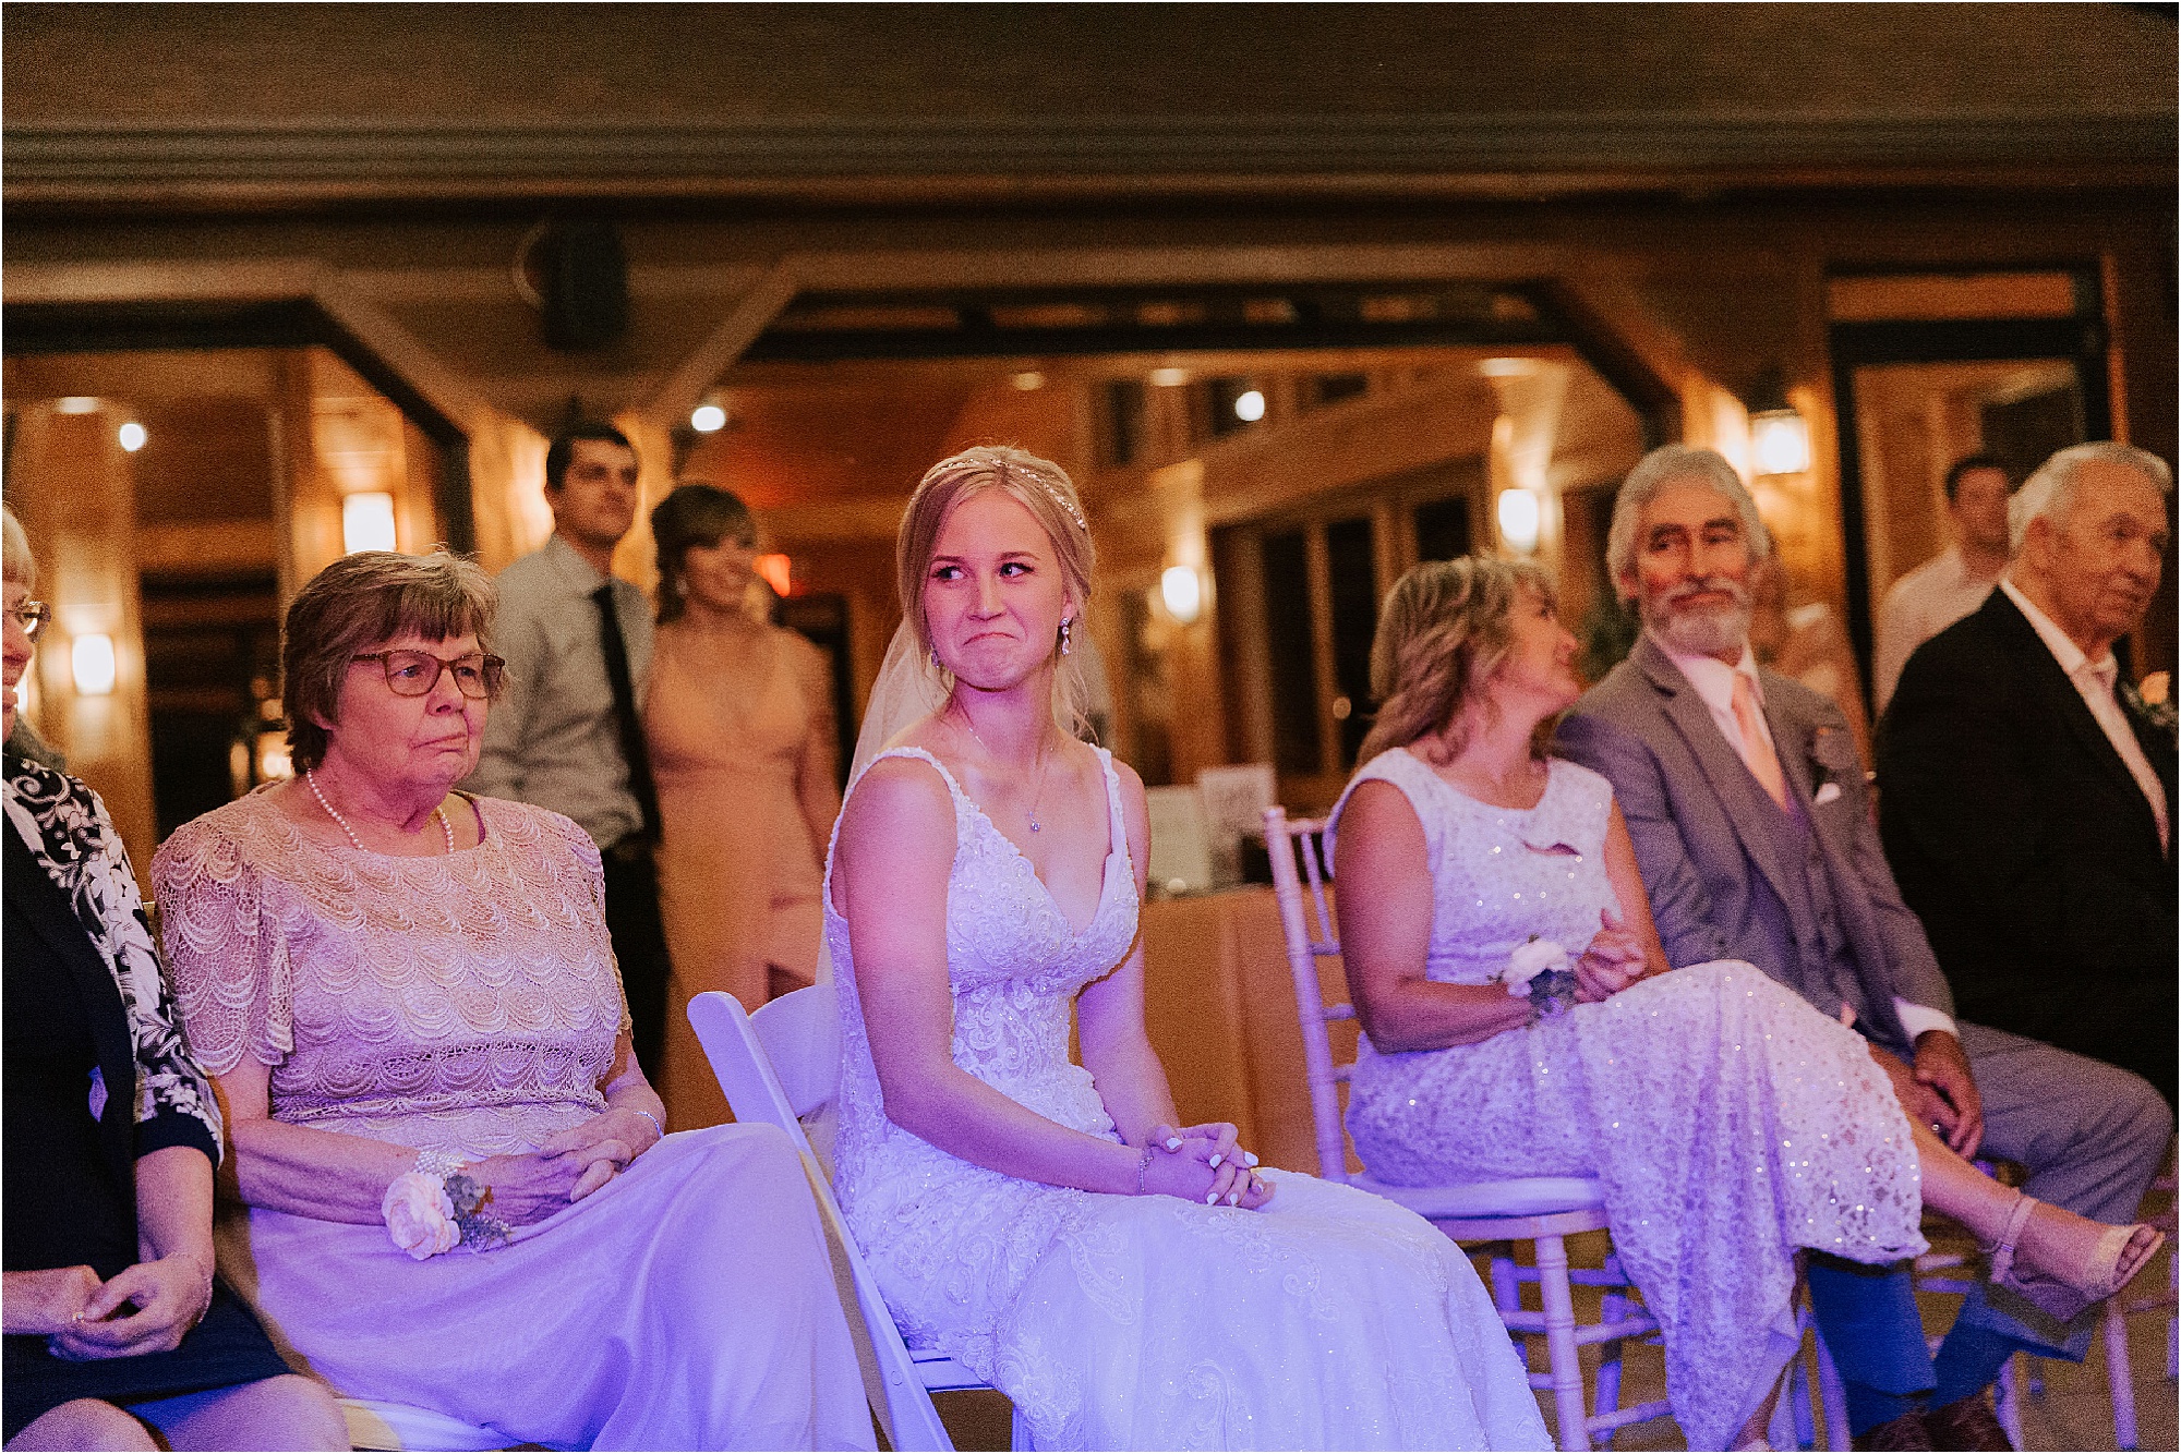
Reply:
[[[299,778],[153,861],[227,1105],[238,1282],[314,1371],[552,1447],[870,1447],[803,1166],[665,1138],[598,848],[454,791],[504,663],[460,558],[362,552],[288,610]]]

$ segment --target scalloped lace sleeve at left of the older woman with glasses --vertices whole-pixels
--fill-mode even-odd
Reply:
[[[150,863],[174,1003],[196,1059],[227,1075],[249,1055],[288,1059],[292,970],[264,876],[207,820],[183,824]]]

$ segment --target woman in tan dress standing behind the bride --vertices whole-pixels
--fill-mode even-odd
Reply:
[[[818,970],[818,885],[840,815],[831,669],[752,595],[757,523],[683,484],[652,510],[659,639],[643,732],[659,783],[659,909],[674,959],[663,1090],[674,1129],[728,1118],[683,1007],[726,990],[757,1009]]]

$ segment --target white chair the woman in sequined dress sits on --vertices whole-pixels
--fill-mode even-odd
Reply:
[[[1352,1020],[1350,1005],[1326,1005],[1317,961],[1341,953],[1326,905],[1328,865],[1320,848],[1324,822],[1287,820],[1287,809],[1265,809],[1265,848],[1272,855],[1272,887],[1280,902],[1287,964],[1296,979],[1296,1009],[1302,1018],[1302,1064],[1311,1086],[1311,1118],[1317,1129],[1317,1173],[1396,1201],[1457,1243],[1481,1243],[1492,1258],[1492,1301],[1511,1334],[1544,1336],[1546,1373],[1531,1373],[1531,1389],[1551,1389],[1562,1450],[1588,1450],[1590,1439],[1625,1423],[1671,1415],[1664,1400],[1620,1408],[1620,1343],[1658,1332],[1658,1321],[1629,1297],[1631,1284],[1616,1258],[1601,1271],[1568,1269],[1566,1238],[1577,1232],[1610,1232],[1605,1195],[1588,1177],[1507,1177],[1459,1186],[1387,1186],[1367,1173],[1348,1171],[1339,1086],[1350,1066],[1333,1064],[1326,1025]],[[1296,861],[1302,872],[1296,872]],[[1304,881],[1317,916],[1313,933],[1304,918]],[[1535,1245],[1535,1269],[1514,1260],[1514,1243]],[[1520,1284],[1535,1282],[1542,1312],[1522,1308]],[[1601,1319],[1577,1325],[1573,1286],[1603,1291]],[[1596,1413],[1583,1408],[1583,1369],[1577,1349],[1599,1347]],[[1808,1421],[1806,1415],[1802,1419]]]

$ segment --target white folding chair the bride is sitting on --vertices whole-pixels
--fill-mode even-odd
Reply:
[[[833,1249],[842,1308],[855,1310],[848,1328],[861,1334],[857,1356],[864,1360],[864,1384],[879,1410],[885,1441],[896,1450],[953,1450],[931,1395],[992,1384],[953,1358],[912,1352],[901,1341],[879,1280],[848,1232],[824,1166],[803,1131],[803,1118],[820,1114],[840,1094],[840,1009],[833,985],[783,994],[755,1016],[744,1014],[733,994],[707,990],[689,1001],[689,1027],[720,1077],[735,1120],[776,1125],[803,1153],[803,1171]],[[1021,1413],[1014,1415],[1014,1447],[1027,1447]]]

